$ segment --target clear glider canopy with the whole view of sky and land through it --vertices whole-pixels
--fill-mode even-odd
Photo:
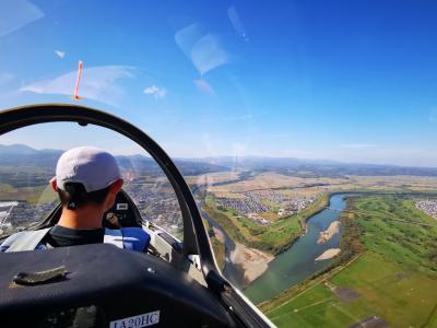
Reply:
[[[434,327],[436,14],[408,0],[2,0],[0,109],[79,104],[150,134],[224,276],[277,326]],[[3,234],[52,209],[54,165],[83,144],[116,155],[143,219],[181,237],[149,154],[74,124],[0,137]]]

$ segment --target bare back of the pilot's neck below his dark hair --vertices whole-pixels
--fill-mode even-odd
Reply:
[[[103,208],[94,206],[85,206],[74,210],[63,207],[58,225],[80,230],[99,229],[102,227],[104,212]]]

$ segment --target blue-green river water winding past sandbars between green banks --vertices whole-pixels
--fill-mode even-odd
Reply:
[[[317,244],[319,232],[328,229],[331,222],[339,220],[341,211],[345,209],[343,200],[345,194],[333,195],[330,207],[307,221],[308,232],[302,236],[291,248],[279,255],[269,263],[269,269],[244,291],[253,303],[272,298],[292,285],[311,277],[332,262],[332,259],[315,261],[315,259],[329,248],[338,248],[340,234],[335,234],[324,244]]]

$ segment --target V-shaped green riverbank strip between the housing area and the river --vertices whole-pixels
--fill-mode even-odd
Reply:
[[[234,241],[271,254],[284,251],[305,229],[305,221],[328,204],[329,196],[320,196],[311,206],[297,214],[261,226],[233,210],[217,206],[210,195],[203,210],[214,219]]]

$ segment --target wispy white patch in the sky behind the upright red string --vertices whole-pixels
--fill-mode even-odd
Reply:
[[[119,82],[131,77],[133,77],[133,68],[127,66],[102,66],[84,69],[79,86],[79,95],[83,98],[117,105],[125,93]],[[71,71],[52,80],[44,80],[25,85],[20,91],[37,94],[71,95],[75,79],[76,71]]]

